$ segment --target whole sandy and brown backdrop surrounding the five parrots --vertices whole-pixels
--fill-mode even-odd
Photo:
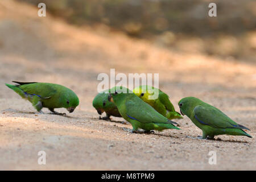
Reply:
[[[208,16],[210,2],[217,17]],[[0,169],[255,169],[255,139],[189,139],[201,130],[187,117],[179,131],[128,134],[122,118],[99,120],[92,106],[99,73],[159,73],[175,110],[183,97],[200,98],[255,138],[255,28],[250,0],[1,0]],[[35,114],[4,85],[13,80],[67,86],[80,104],[68,117]],[[47,165],[37,163],[40,150]],[[218,165],[209,165],[209,150]]]

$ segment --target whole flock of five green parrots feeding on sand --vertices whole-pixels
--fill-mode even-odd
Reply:
[[[54,109],[64,107],[72,113],[79,105],[79,98],[75,92],[65,86],[43,82],[13,82],[16,85],[6,84],[6,86],[30,101],[40,113],[43,113],[42,108],[46,107],[53,114],[65,115],[65,113],[57,113]],[[151,96],[156,92],[158,97],[152,99]],[[133,91],[115,86],[98,93],[93,100],[93,107],[100,115],[106,113],[106,117],[100,119],[110,120],[110,116],[113,115],[130,122],[133,129],[126,130],[131,133],[180,130],[175,126],[177,123],[171,119],[182,119],[182,115],[187,115],[203,131],[203,136],[197,137],[199,139],[213,139],[214,136],[222,134],[252,138],[243,130],[249,130],[247,127],[237,124],[221,110],[198,98],[182,98],[179,101],[180,113],[178,113],[166,93],[148,85],[138,86]]]

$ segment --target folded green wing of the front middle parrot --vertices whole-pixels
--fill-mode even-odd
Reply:
[[[142,101],[139,97],[133,97],[126,101],[126,115],[142,123],[171,123],[177,124],[159,114],[153,107]]]

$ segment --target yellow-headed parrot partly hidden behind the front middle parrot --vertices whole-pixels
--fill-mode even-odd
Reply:
[[[142,85],[135,88],[133,93],[135,93],[135,95],[141,98],[144,102],[147,102],[147,104],[154,107],[154,109],[164,117],[168,119],[183,118],[180,113],[175,111],[174,105],[172,105],[169,100],[169,96],[160,89],[154,88],[153,86]],[[158,97],[150,99],[150,96],[153,94],[158,94]]]

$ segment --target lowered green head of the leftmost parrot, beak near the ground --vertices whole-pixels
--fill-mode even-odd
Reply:
[[[66,108],[69,113],[72,113],[79,105],[79,98],[72,90],[68,90],[65,94],[60,96],[61,104]]]

